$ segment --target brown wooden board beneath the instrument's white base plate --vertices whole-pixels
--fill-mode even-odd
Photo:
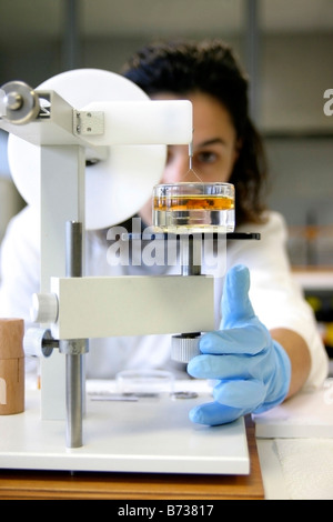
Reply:
[[[249,475],[0,470],[0,500],[262,500],[254,425],[246,420]]]

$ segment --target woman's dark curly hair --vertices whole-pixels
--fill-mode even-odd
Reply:
[[[236,223],[261,222],[265,210],[266,161],[262,139],[249,117],[248,78],[232,49],[220,40],[158,42],[139,50],[122,74],[148,96],[203,92],[230,112],[242,143],[230,178],[236,191]]]

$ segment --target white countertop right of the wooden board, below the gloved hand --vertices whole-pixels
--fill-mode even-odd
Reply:
[[[254,416],[268,500],[333,500],[333,381]]]

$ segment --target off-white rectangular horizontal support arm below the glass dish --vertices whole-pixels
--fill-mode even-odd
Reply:
[[[59,340],[214,329],[209,275],[52,278],[51,292],[58,311],[49,319]]]

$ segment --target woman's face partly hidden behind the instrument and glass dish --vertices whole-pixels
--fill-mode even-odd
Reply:
[[[179,97],[159,94],[153,99],[176,100]],[[240,149],[230,113],[209,94],[198,92],[188,99],[193,106],[192,170],[190,170],[189,147],[169,145],[161,183],[228,182]],[[151,224],[151,200],[141,209],[140,215],[147,224]]]

